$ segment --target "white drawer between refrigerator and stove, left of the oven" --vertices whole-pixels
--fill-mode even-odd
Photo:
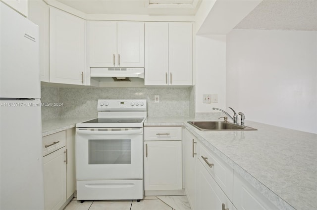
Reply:
[[[43,156],[66,146],[66,130],[42,138]]]

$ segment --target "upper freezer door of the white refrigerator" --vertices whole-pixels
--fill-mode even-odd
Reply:
[[[0,2],[0,98],[41,98],[39,28]]]

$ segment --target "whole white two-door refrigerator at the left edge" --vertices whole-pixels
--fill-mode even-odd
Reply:
[[[0,210],[44,210],[38,26],[0,2]]]

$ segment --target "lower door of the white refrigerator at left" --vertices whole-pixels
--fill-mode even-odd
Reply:
[[[0,101],[0,209],[44,210],[41,101]]]

